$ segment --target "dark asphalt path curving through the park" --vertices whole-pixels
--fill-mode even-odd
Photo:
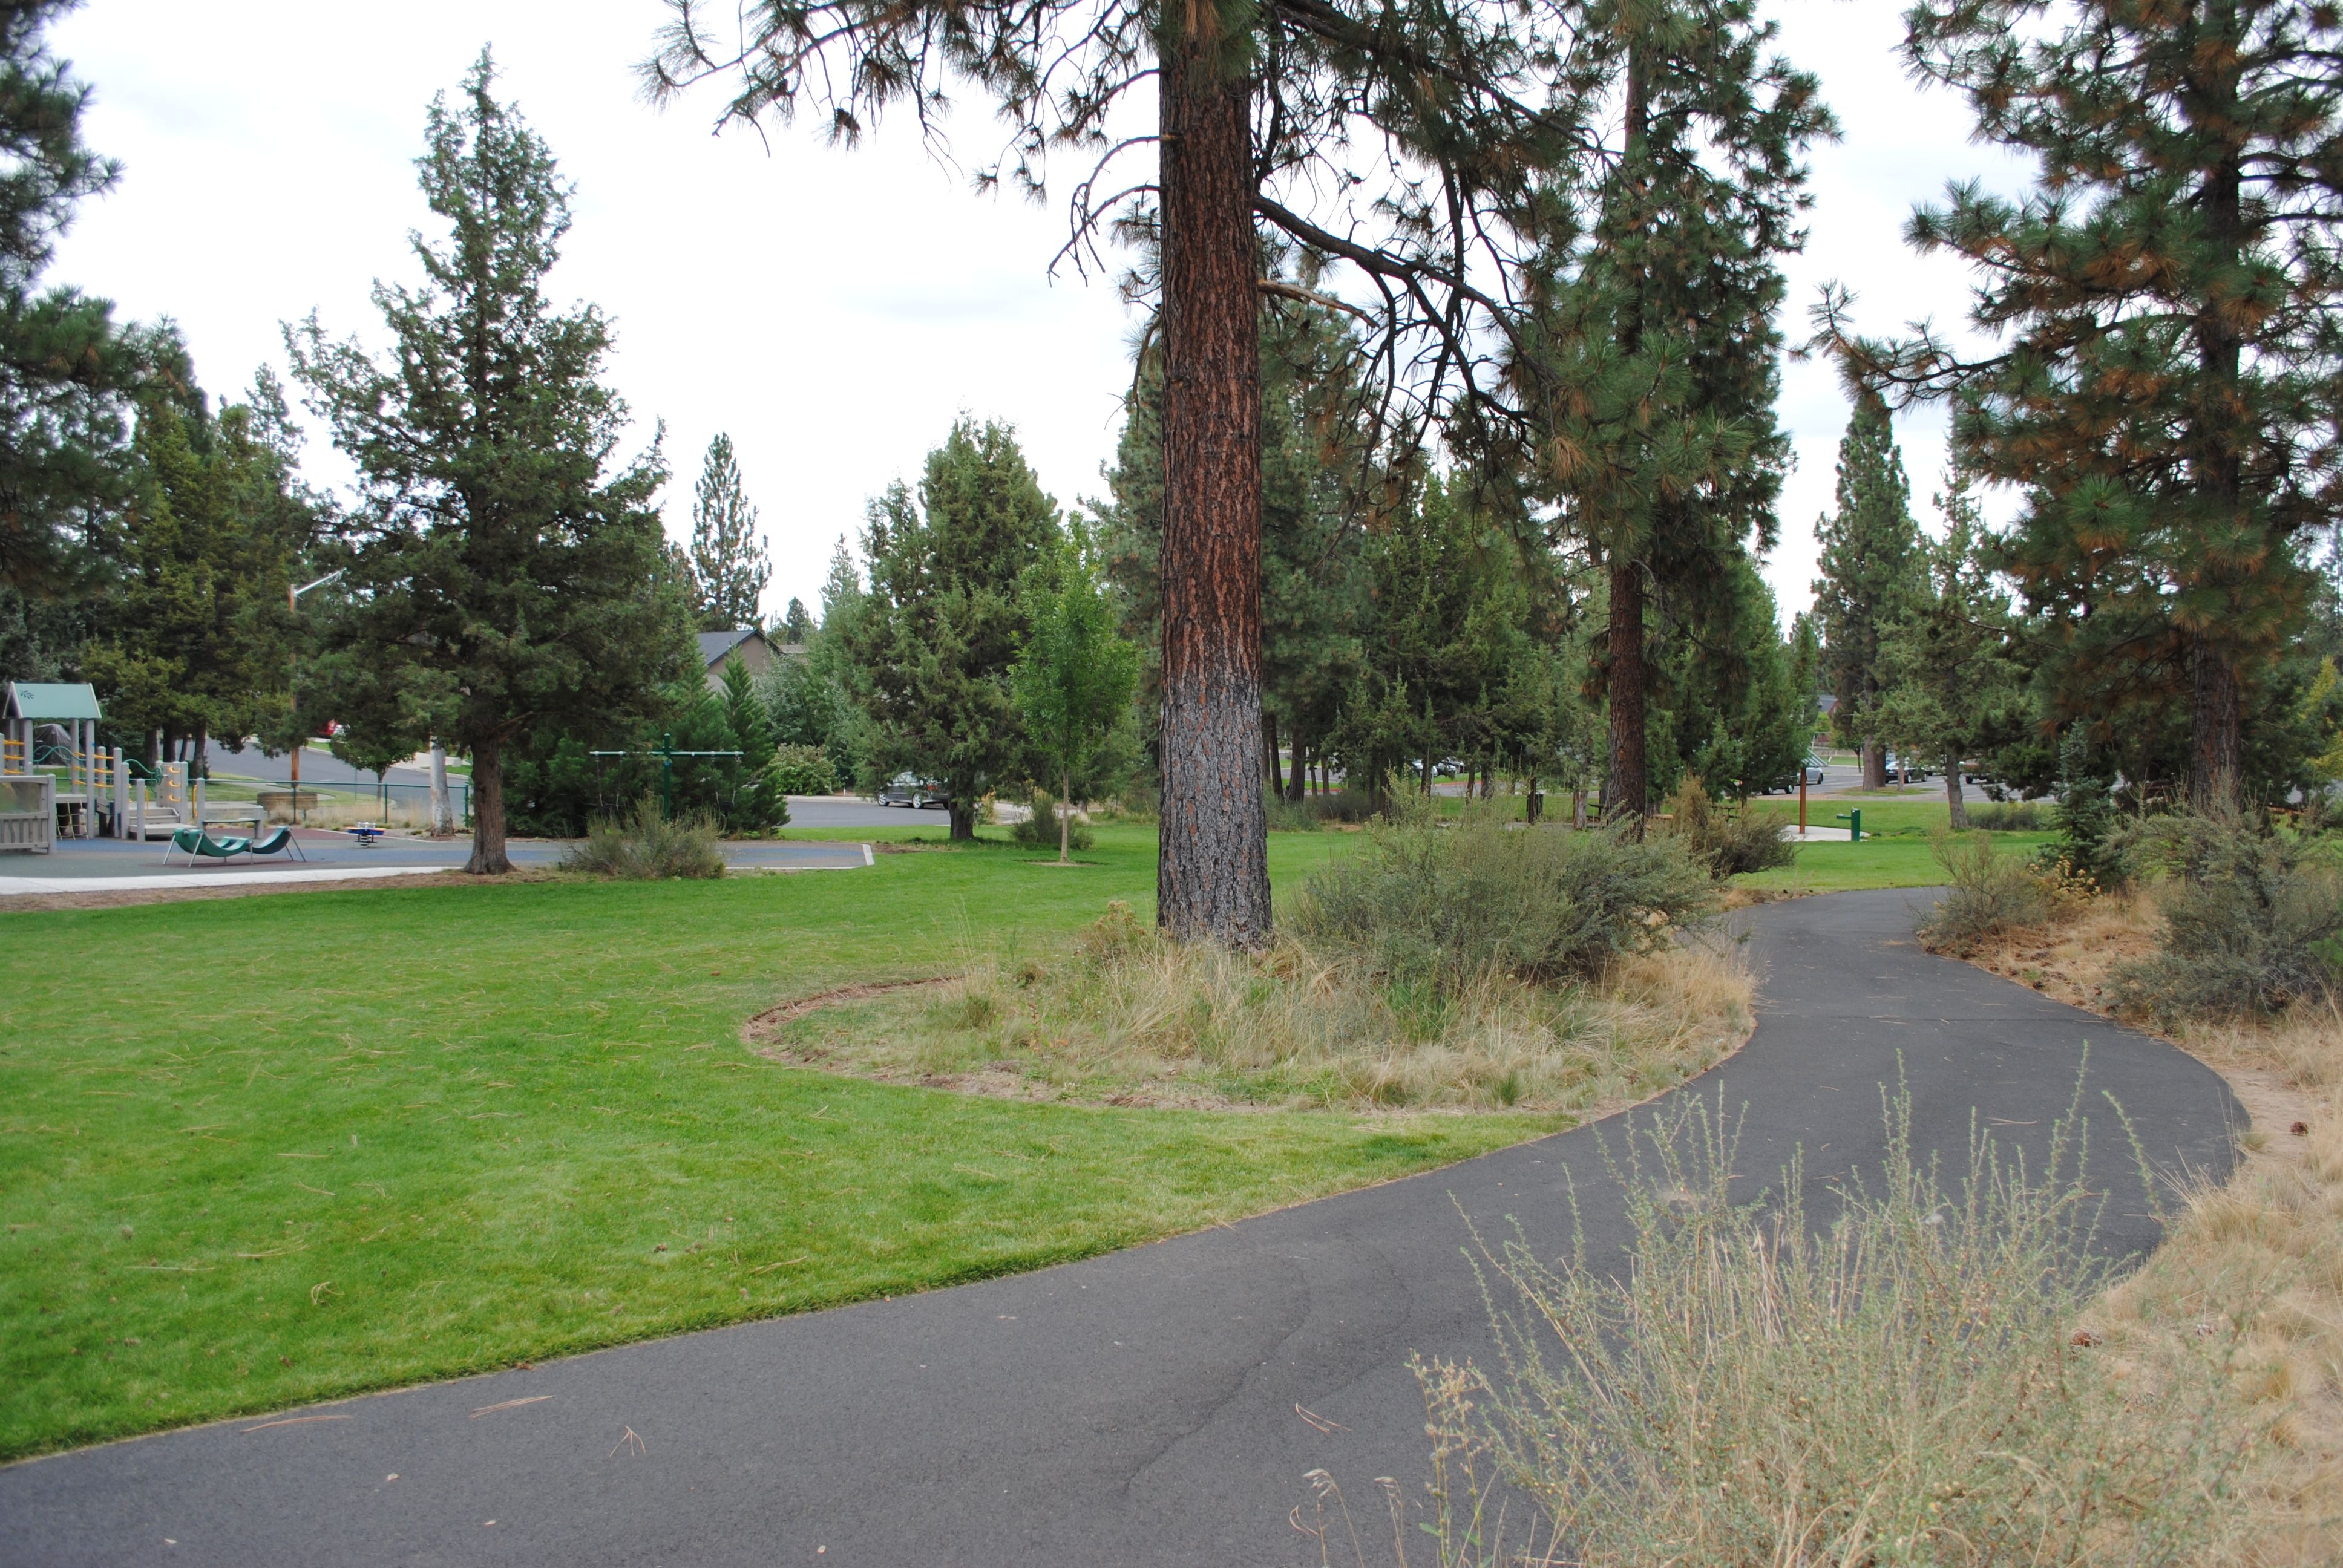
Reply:
[[[2209,1069],[1924,954],[1924,898],[1753,912],[1755,1038],[1635,1116],[1722,1097],[1750,1193],[1799,1148],[1825,1191],[1877,1170],[1903,1071],[1956,1172],[1973,1118],[2038,1148],[2088,1041],[2090,1097],[2160,1167],[2226,1174],[2245,1113]],[[2156,1223],[2099,1109],[2099,1238],[2130,1256]],[[0,1561],[1317,1563],[1286,1519],[1305,1472],[1361,1526],[1375,1477],[1420,1498],[1406,1359],[1488,1350],[1462,1216],[1560,1252],[1570,1184],[1591,1254],[1619,1256],[1600,1144],[1624,1125],[1010,1280],[14,1465]]]

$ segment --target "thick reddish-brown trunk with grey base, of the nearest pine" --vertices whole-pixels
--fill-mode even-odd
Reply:
[[[1179,23],[1174,23],[1179,26]],[[1169,33],[1169,28],[1167,28]],[[1162,848],[1174,938],[1270,935],[1251,84],[1211,5],[1162,45]]]

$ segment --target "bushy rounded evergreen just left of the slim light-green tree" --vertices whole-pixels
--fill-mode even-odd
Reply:
[[[1057,539],[1057,504],[1005,424],[961,420],[928,452],[918,504],[897,483],[869,506],[869,591],[839,626],[869,727],[865,766],[874,780],[895,769],[942,780],[954,839],[977,834],[986,790],[1022,776],[1010,666],[1026,572]]]

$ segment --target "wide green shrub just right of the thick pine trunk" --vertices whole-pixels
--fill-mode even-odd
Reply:
[[[1715,884],[1671,837],[1509,827],[1481,809],[1441,825],[1403,797],[1359,853],[1310,879],[1291,926],[1396,987],[1460,994],[1490,973],[1593,977],[1713,909]]]

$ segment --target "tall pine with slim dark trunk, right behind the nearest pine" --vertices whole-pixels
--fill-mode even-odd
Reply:
[[[1551,216],[1551,279],[1523,380],[1544,417],[1539,485],[1605,572],[1605,811],[1652,806],[1649,609],[1731,616],[1729,560],[1774,541],[1788,441],[1778,255],[1802,244],[1804,148],[1832,131],[1813,77],[1767,49],[1748,0],[1621,0],[1591,28],[1621,143]],[[1591,209],[1591,223],[1582,218]],[[1579,225],[1586,223],[1582,230]]]

